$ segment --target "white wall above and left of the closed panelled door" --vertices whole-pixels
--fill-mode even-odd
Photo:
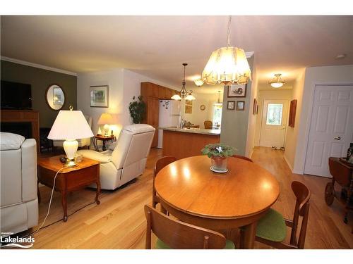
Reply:
[[[353,65],[324,66],[306,68],[303,88],[303,101],[298,124],[298,135],[294,157],[293,172],[304,173],[306,146],[309,139],[309,127],[313,92],[316,84],[353,84]],[[298,107],[297,107],[298,109]],[[297,121],[299,121],[297,123]]]

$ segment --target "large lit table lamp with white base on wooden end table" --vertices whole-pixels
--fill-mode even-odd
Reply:
[[[52,129],[49,132],[48,139],[64,140],[64,151],[67,156],[65,167],[76,166],[75,155],[78,148],[76,139],[85,139],[93,137],[90,125],[88,125],[85,116],[81,111],[59,111],[56,116]]]

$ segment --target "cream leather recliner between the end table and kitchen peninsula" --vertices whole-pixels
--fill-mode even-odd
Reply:
[[[150,125],[127,125],[107,151],[80,150],[77,153],[100,161],[101,188],[114,190],[143,173],[154,134],[155,128]]]

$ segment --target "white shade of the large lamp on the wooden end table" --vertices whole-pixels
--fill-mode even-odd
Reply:
[[[93,137],[90,125],[81,111],[59,111],[48,139],[86,139]]]

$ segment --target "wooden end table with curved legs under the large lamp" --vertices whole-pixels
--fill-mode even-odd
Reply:
[[[64,168],[64,165],[61,163],[59,158],[60,156],[38,159],[38,184],[42,183],[47,187],[53,187],[56,172]],[[100,163],[98,161],[93,161],[90,158],[83,158],[83,160],[78,163],[76,167],[64,168],[56,176],[54,190],[61,192],[61,204],[64,210],[64,222],[66,222],[68,218],[66,200],[66,195],[68,192],[88,187],[88,185],[92,183],[97,184],[95,202],[100,204],[98,199],[100,195]],[[38,199],[40,202],[39,188]]]

